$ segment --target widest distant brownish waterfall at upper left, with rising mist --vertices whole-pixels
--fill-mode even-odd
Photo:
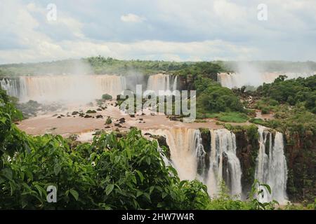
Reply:
[[[5,84],[1,80],[1,87]],[[38,102],[91,102],[105,93],[116,97],[125,89],[123,76],[20,76],[19,85],[11,84],[8,93],[19,97],[22,102],[29,99]]]

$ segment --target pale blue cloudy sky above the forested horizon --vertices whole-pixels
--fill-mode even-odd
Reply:
[[[260,3],[268,20],[258,20]],[[96,55],[316,61],[315,12],[315,0],[1,0],[0,64]]]

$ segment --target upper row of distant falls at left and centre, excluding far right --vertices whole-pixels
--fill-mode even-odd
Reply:
[[[138,83],[129,80],[129,84]],[[116,97],[126,90],[126,78],[114,75],[20,76],[3,78],[0,85],[21,102],[29,99],[38,102],[90,102],[105,93]],[[176,89],[177,76],[157,74],[148,78],[147,90],[156,94],[159,94],[159,90],[171,94]]]

